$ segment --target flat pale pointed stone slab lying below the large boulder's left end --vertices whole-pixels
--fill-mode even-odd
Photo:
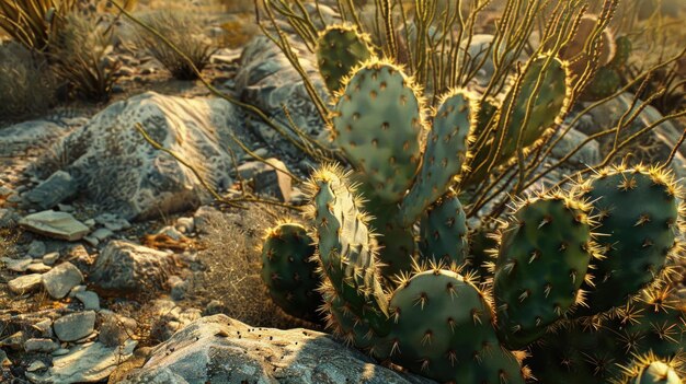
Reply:
[[[22,218],[19,224],[28,231],[70,242],[82,238],[89,232],[88,226],[70,213],[57,211],[28,214]]]

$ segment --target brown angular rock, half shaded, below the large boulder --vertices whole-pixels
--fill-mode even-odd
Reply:
[[[164,288],[174,269],[173,255],[115,240],[101,251],[90,280],[112,290]]]

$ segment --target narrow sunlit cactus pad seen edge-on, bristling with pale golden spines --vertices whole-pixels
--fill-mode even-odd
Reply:
[[[388,300],[378,276],[374,234],[362,201],[347,176],[335,166],[317,171],[307,186],[312,196],[322,278],[327,279],[354,313],[382,335],[387,327]]]

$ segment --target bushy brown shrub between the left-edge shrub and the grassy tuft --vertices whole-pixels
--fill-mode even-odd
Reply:
[[[110,98],[119,67],[112,49],[111,28],[92,18],[69,15],[53,38],[49,57],[70,95],[101,102]]]

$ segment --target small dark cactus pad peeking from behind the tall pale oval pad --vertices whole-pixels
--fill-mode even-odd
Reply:
[[[373,55],[369,36],[348,25],[332,25],[323,31],[316,53],[319,72],[332,94],[341,89],[353,68]]]

